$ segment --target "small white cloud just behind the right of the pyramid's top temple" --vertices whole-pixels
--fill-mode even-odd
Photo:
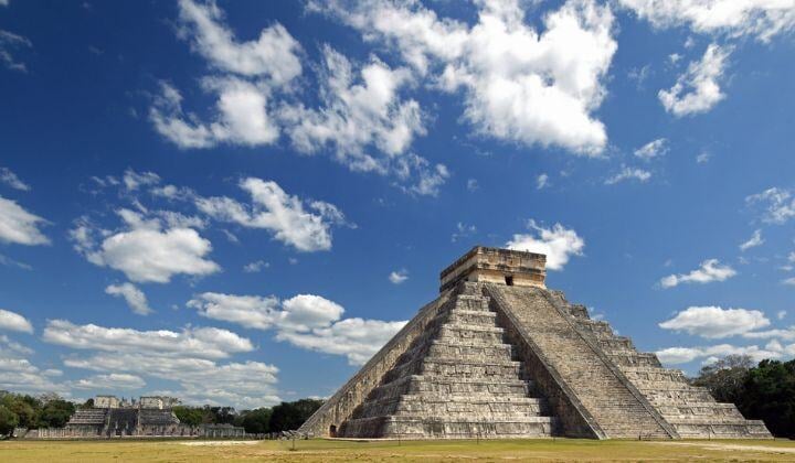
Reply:
[[[507,248],[545,255],[547,268],[550,270],[563,270],[571,256],[582,256],[585,241],[573,229],[564,228],[561,224],[543,228],[536,225],[534,220],[528,225],[537,234],[516,234],[506,244]]]

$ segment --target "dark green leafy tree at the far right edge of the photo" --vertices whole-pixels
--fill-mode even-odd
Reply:
[[[774,435],[795,438],[795,360],[751,368],[736,406],[745,418],[764,420]]]

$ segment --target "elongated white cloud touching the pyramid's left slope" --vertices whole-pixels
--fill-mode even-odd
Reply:
[[[285,301],[276,297],[206,292],[188,306],[214,320],[256,330],[274,330],[276,340],[333,355],[361,365],[394,336],[406,322],[342,319],[344,309],[328,299],[298,294]]]

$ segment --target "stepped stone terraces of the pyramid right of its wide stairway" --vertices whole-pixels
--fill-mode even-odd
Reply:
[[[771,438],[760,420],[746,420],[733,403],[717,402],[709,391],[691,386],[681,370],[664,368],[655,354],[638,352],[610,324],[591,320],[582,305],[563,300],[581,333],[596,342],[682,438]]]

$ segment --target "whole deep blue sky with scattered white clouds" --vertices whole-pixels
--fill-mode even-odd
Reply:
[[[476,244],[795,355],[795,6],[0,1],[0,388],[333,392]]]

